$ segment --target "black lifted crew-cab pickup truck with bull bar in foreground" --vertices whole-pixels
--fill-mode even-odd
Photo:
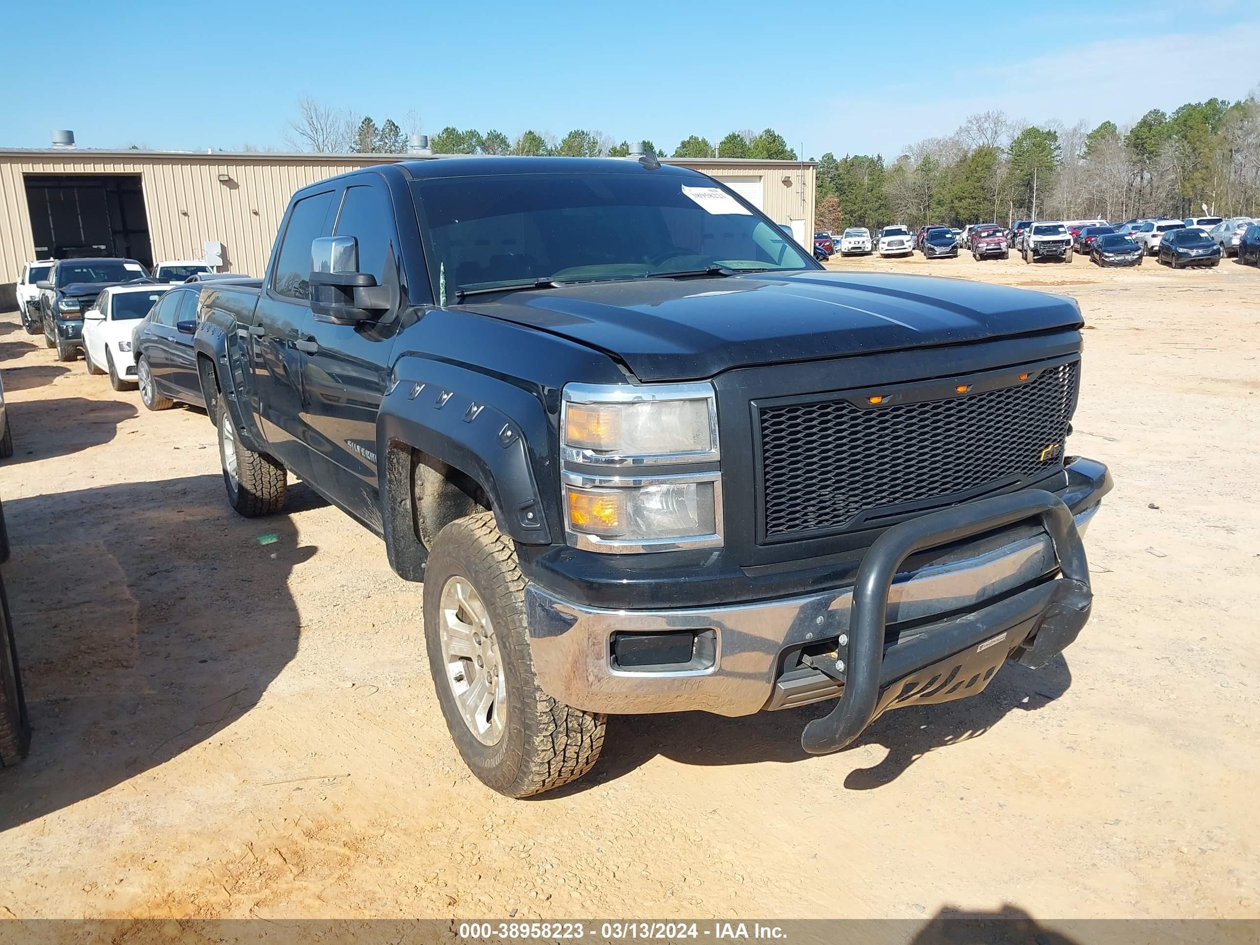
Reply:
[[[1090,612],[1076,304],[829,272],[651,155],[307,186],[262,286],[198,319],[232,505],[278,512],[292,472],[384,539],[510,796],[585,774],[609,713],[837,699],[801,736],[834,751]]]

